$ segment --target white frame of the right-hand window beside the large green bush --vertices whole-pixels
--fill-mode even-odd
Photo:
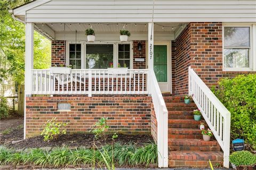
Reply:
[[[230,68],[225,67],[225,27],[249,27],[250,28],[250,48],[249,48],[249,67]],[[222,24],[222,70],[223,71],[255,71],[256,70],[256,24],[254,23],[223,23]],[[243,47],[239,47],[243,48]],[[244,47],[248,49],[247,47]]]

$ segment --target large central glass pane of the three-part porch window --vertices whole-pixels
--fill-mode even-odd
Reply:
[[[87,44],[86,69],[107,69],[113,63],[113,44]]]

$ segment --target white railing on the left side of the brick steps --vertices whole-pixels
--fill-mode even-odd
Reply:
[[[149,94],[153,100],[157,120],[158,167],[168,167],[168,111],[156,75],[152,70],[149,72]]]

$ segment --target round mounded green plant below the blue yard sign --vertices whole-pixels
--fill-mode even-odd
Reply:
[[[256,165],[256,155],[246,150],[233,152],[229,156],[229,160],[237,170],[252,170]]]

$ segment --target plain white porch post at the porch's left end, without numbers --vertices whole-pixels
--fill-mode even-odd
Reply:
[[[34,23],[26,23],[25,43],[25,100],[24,100],[24,139],[26,139],[26,97],[32,94],[31,69],[34,65]]]

